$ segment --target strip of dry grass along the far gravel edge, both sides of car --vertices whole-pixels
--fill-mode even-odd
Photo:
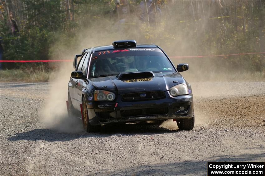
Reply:
[[[13,69],[0,70],[0,82],[48,82],[49,78],[55,77],[55,72],[42,67],[37,69]],[[238,70],[231,72],[210,70],[188,70],[181,72],[189,82],[204,81],[265,81],[265,71]]]

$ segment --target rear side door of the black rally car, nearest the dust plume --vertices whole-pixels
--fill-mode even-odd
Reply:
[[[81,71],[86,55],[87,55],[87,52],[84,53],[84,55],[80,59],[78,65],[76,66],[76,69],[75,69],[76,71]],[[73,96],[71,97],[71,100],[72,100],[72,104],[73,104],[74,108],[77,110],[80,109],[80,104],[81,104],[79,102],[78,95],[77,95],[77,87],[79,85],[78,84],[79,80],[80,79],[75,79],[75,78],[72,79],[72,84],[73,84],[74,88],[73,88]]]

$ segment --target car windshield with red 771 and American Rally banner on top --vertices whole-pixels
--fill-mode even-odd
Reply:
[[[119,73],[176,72],[159,48],[128,48],[95,52],[89,63],[89,78]]]

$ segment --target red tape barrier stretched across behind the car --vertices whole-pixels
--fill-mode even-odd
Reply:
[[[265,52],[249,52],[249,53],[237,53],[237,54],[223,54],[223,55],[208,55],[208,56],[170,56],[170,58],[190,58],[190,57],[220,57],[220,56],[235,56],[235,55],[247,55],[247,54],[265,54]],[[31,60],[31,61],[0,61],[0,62],[69,62],[73,60]]]

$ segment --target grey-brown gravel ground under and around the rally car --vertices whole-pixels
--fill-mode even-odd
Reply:
[[[88,134],[77,118],[52,127],[42,122],[51,84],[1,83],[0,175],[206,175],[207,162],[264,162],[265,83],[191,85],[192,131],[166,121],[105,125]]]

